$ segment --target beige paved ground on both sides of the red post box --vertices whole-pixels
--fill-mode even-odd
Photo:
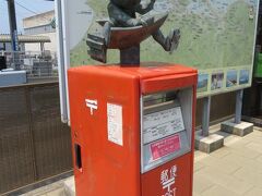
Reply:
[[[214,128],[216,130],[216,128]],[[261,196],[262,130],[245,137],[219,133],[225,147],[206,155],[195,151],[193,196]],[[25,196],[64,196],[62,182]]]

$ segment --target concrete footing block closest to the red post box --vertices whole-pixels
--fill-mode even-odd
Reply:
[[[217,134],[211,134],[209,136],[202,136],[201,131],[196,132],[194,139],[195,149],[211,154],[224,146],[224,136]]]

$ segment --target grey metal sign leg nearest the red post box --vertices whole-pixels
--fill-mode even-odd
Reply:
[[[203,115],[202,115],[202,136],[210,135],[210,108],[211,97],[203,98]]]

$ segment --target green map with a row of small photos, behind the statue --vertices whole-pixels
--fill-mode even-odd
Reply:
[[[108,1],[87,0],[85,3],[92,12],[88,30],[99,30],[95,20],[108,17]],[[258,7],[258,0],[157,0],[154,11],[169,12],[162,30],[167,35],[171,28],[179,28],[180,44],[170,54],[150,38],[141,45],[141,61],[196,68],[199,96],[248,87],[251,85]],[[98,63],[87,56],[85,39],[86,34],[71,50],[72,66]],[[119,62],[118,51],[108,52],[108,63],[114,62]]]

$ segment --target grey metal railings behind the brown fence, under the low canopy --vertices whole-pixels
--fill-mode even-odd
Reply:
[[[27,77],[58,76],[57,53],[50,51],[1,51],[8,69],[25,70]]]

